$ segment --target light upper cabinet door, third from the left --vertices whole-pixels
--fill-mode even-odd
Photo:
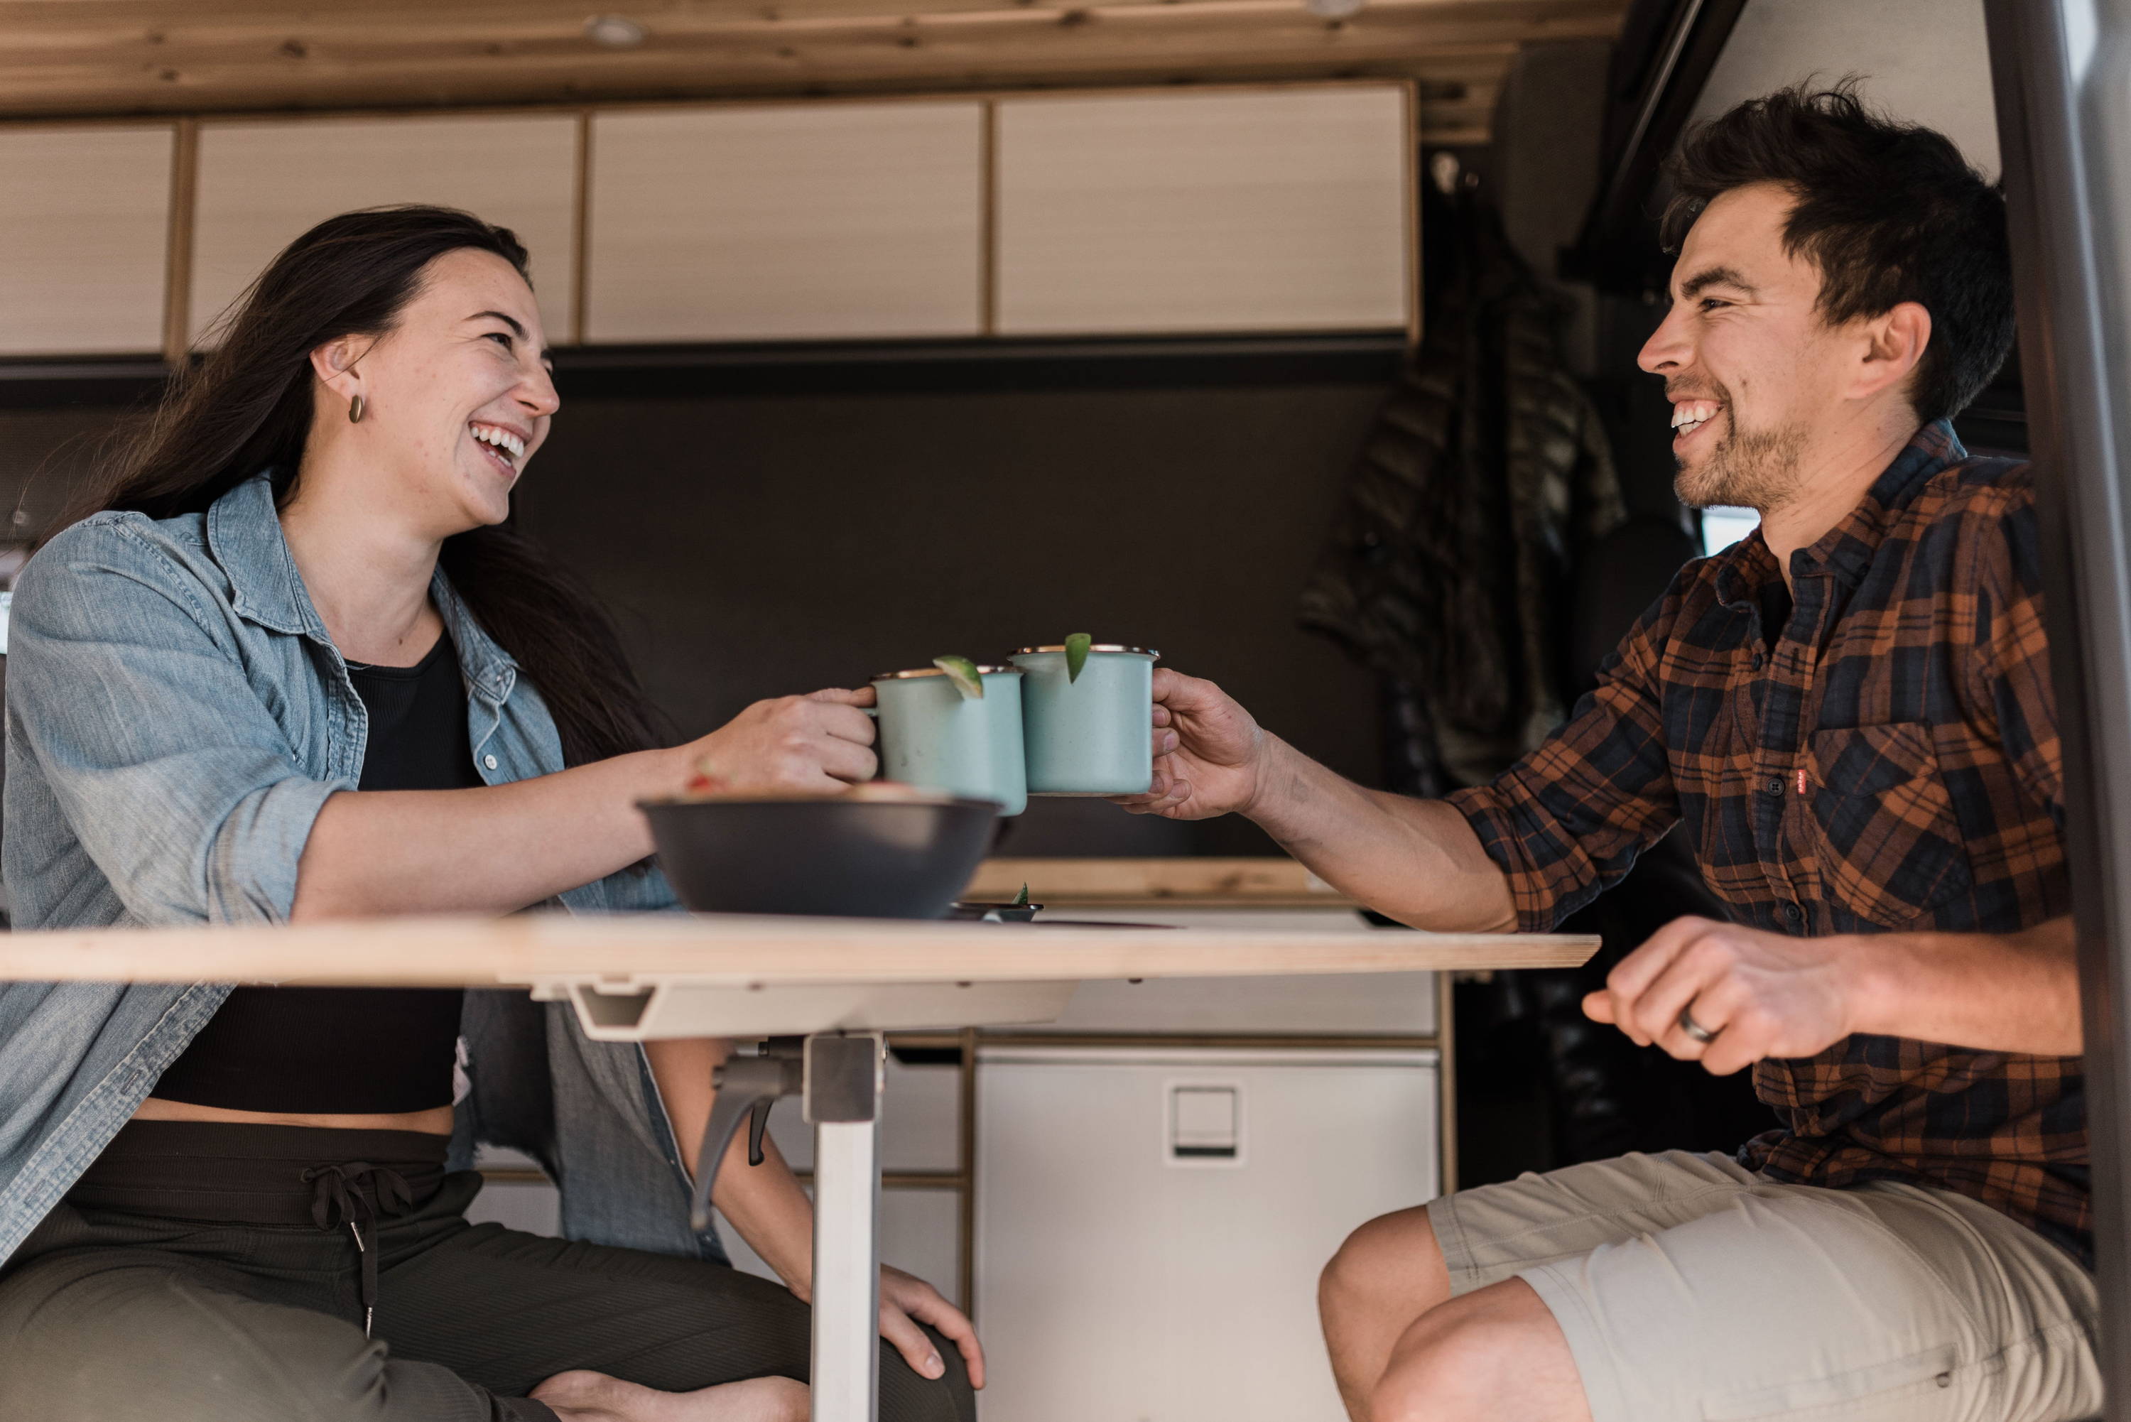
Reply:
[[[976,335],[982,107],[592,119],[586,337]]]

